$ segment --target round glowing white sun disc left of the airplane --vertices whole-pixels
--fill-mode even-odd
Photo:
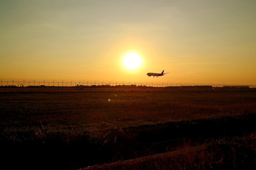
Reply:
[[[129,70],[133,70],[141,65],[141,57],[136,53],[128,53],[124,56],[123,64]]]

